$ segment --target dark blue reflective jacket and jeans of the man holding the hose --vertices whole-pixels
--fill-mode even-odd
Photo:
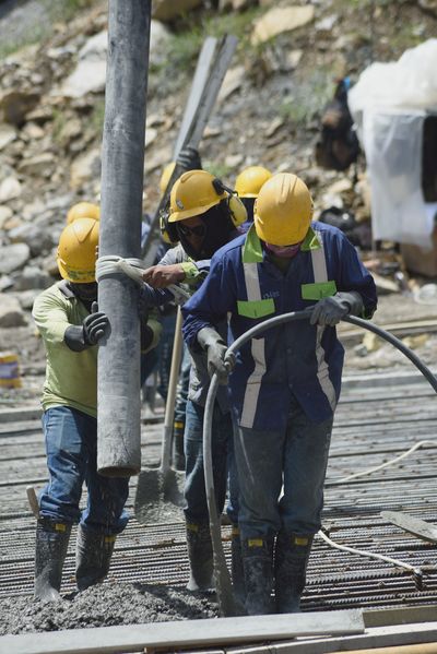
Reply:
[[[376,308],[371,276],[339,229],[312,223],[284,274],[262,249],[255,227],[224,246],[210,274],[182,308],[184,335],[229,316],[231,340],[273,316],[300,311],[336,292],[358,292],[364,318]],[[320,528],[333,413],[344,350],[334,328],[290,322],[241,347],[229,377],[243,538],[280,530]],[[283,487],[284,495],[280,494]]]

